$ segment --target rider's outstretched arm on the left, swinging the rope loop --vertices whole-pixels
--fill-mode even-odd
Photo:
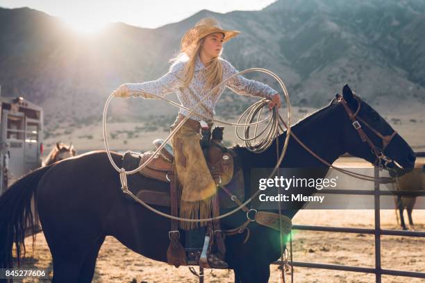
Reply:
[[[167,94],[175,92],[181,87],[180,71],[183,69],[183,62],[173,65],[167,74],[158,78],[158,80],[150,80],[144,83],[124,83],[120,88],[124,89],[122,95],[118,96],[142,96],[143,98],[153,99],[157,96],[165,97]]]

